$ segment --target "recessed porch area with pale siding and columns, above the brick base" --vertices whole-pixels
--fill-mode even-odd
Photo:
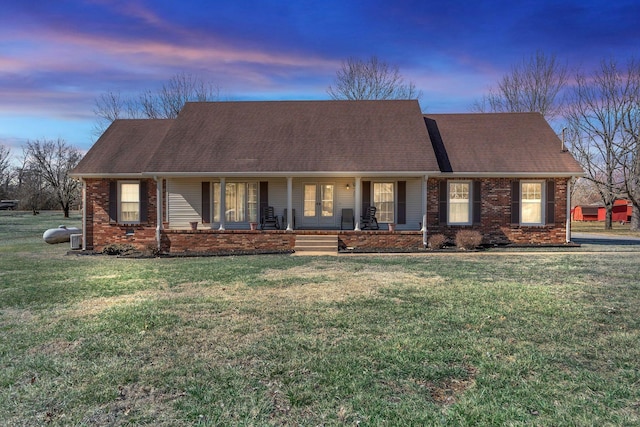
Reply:
[[[426,214],[423,176],[155,179],[160,230],[421,231]]]

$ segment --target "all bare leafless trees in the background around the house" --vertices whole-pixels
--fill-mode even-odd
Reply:
[[[422,91],[406,81],[397,66],[375,56],[349,58],[327,88],[331,99],[419,99]],[[185,102],[221,100],[220,87],[179,73],[156,91],[124,96],[107,92],[95,101],[95,134],[117,119],[175,118]],[[632,230],[640,230],[640,63],[604,59],[592,72],[570,71],[555,55],[536,52],[514,64],[495,87],[470,107],[475,112],[539,112],[556,128],[586,171],[574,186],[583,200],[607,208],[612,226],[617,198],[631,200]],[[65,215],[78,202],[79,183],[68,172],[79,151],[63,140],[28,141],[19,166],[0,145],[0,196],[20,199],[21,207],[60,207]]]

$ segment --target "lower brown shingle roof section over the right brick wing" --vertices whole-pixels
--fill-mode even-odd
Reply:
[[[583,173],[539,113],[424,117],[443,172]]]

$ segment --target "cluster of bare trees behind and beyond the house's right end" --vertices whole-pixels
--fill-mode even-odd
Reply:
[[[558,123],[586,173],[577,190],[584,201],[605,206],[605,229],[612,228],[615,200],[623,198],[633,207],[631,230],[640,231],[638,60],[603,59],[591,72],[569,72],[555,56],[538,52],[513,66],[473,109],[540,112]]]

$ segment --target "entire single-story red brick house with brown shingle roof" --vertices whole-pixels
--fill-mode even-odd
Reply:
[[[540,114],[425,115],[415,100],[190,102],[114,121],[72,173],[83,249],[167,253],[286,251],[303,234],[418,249],[461,229],[561,244],[582,175]],[[265,208],[273,229],[253,230]]]

